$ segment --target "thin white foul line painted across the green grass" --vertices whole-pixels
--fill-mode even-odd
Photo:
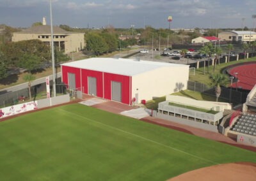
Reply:
[[[84,116],[82,116],[82,115],[79,115],[79,114],[77,114],[77,113],[68,112],[67,110],[63,110],[63,109],[60,109],[60,110],[63,111],[63,112],[67,112],[67,113],[69,113],[69,114],[76,115],[77,117],[81,117],[81,118],[86,119],[86,120],[90,120],[90,121],[93,121],[93,122],[97,122],[98,124],[101,124],[101,125],[103,125],[103,126],[109,127],[109,128],[111,128],[111,129],[115,129],[115,130],[117,130],[117,131],[120,131],[120,132],[123,132],[123,133],[126,133],[126,134],[130,134],[130,135],[132,135],[132,136],[141,138],[142,140],[150,141],[150,142],[155,143],[155,144],[157,144],[157,145],[161,145],[162,147],[170,148],[170,149],[175,150],[175,151],[177,151],[177,152],[181,152],[181,153],[183,153],[183,154],[187,154],[187,155],[189,155],[189,156],[196,157],[197,159],[201,159],[201,160],[207,161],[207,162],[209,162],[209,163],[213,163],[213,164],[220,164],[220,163],[216,163],[216,162],[214,162],[214,161],[211,161],[211,160],[209,160],[209,159],[204,159],[203,157],[199,157],[199,156],[195,156],[195,155],[193,155],[193,154],[189,154],[188,152],[184,152],[184,151],[179,150],[179,149],[177,149],[177,148],[173,148],[173,147],[164,145],[163,143],[159,143],[159,142],[157,142],[157,141],[150,140],[150,139],[145,138],[145,137],[143,137],[143,136],[139,136],[138,134],[129,133],[129,132],[127,132],[127,131],[124,131],[123,129],[118,129],[118,128],[116,128],[116,127],[109,126],[108,124],[104,124],[104,123],[99,122],[99,121],[97,121],[97,120],[89,119],[89,118],[84,117]]]

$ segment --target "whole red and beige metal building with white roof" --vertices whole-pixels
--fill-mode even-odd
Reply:
[[[187,89],[189,66],[133,59],[91,58],[61,64],[69,89],[132,105]]]

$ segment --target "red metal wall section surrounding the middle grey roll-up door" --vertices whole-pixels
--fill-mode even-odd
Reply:
[[[82,69],[82,87],[84,87],[85,94],[88,94],[88,76],[92,76],[97,79],[97,97],[103,98],[102,74],[100,71]]]

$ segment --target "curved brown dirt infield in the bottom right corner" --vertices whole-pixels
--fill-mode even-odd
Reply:
[[[253,163],[228,163],[218,164],[198,170],[188,171],[177,177],[170,178],[168,181],[221,181],[221,180],[232,180],[232,181],[253,181],[256,178],[256,164]]]

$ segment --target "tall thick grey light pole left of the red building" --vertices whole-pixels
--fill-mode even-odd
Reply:
[[[51,17],[51,45],[52,45],[52,89],[53,96],[56,97],[56,82],[55,82],[55,62],[54,62],[54,41],[52,28],[52,1],[50,0],[50,17]]]

